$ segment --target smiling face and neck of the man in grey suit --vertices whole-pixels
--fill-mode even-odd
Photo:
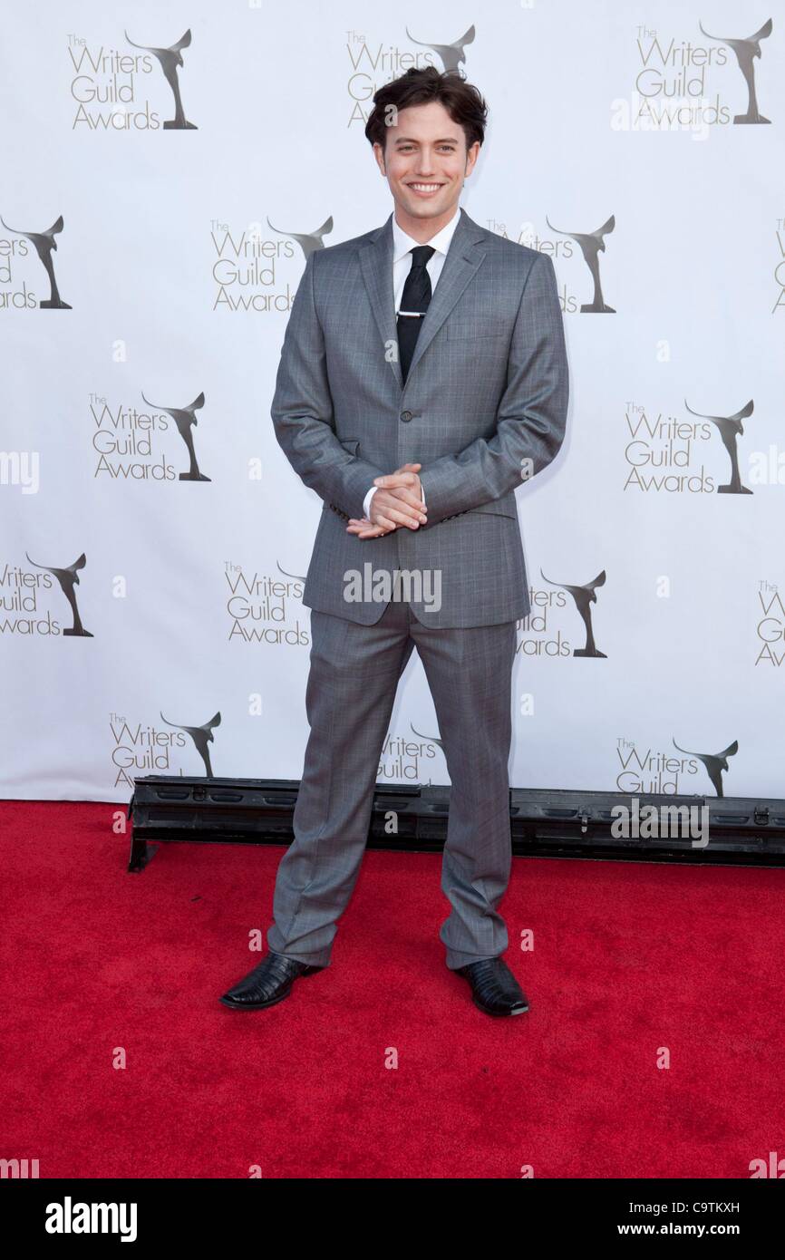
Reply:
[[[396,220],[425,243],[455,214],[464,180],[474,170],[480,142],[466,150],[466,136],[444,105],[428,101],[398,112],[387,127],[386,147],[373,146],[396,203]]]

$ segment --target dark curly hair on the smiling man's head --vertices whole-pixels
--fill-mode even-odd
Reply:
[[[460,71],[442,72],[435,66],[426,66],[422,69],[412,67],[406,74],[401,74],[392,83],[384,83],[374,93],[373,110],[365,123],[368,141],[372,145],[379,144],[384,151],[389,131],[386,120],[391,116],[394,118],[397,110],[407,110],[411,105],[427,105],[430,101],[444,105],[452,121],[464,129],[466,149],[470,149],[475,140],[483,144],[488,118],[485,101]]]

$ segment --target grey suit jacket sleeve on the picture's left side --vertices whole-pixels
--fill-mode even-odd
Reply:
[[[368,486],[383,470],[352,455],[335,435],[325,338],[314,296],[318,256],[318,251],[309,255],[295,294],[271,416],[277,442],[305,485],[347,517],[359,518]]]

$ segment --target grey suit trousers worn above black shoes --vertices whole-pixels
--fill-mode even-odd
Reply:
[[[427,617],[427,612],[423,612]],[[406,600],[391,600],[375,625],[311,610],[306,687],[310,736],[281,858],[267,945],[329,966],[368,840],[379,759],[398,680],[417,648],[450,774],[441,888],[451,910],[441,926],[455,969],[508,946],[498,906],[512,863],[508,760],[515,621],[437,629]]]

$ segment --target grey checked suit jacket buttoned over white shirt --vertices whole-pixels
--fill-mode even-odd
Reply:
[[[309,255],[284,338],[275,432],[324,500],[302,602],[372,625],[398,573],[426,625],[525,617],[515,488],[558,452],[570,393],[551,258],[461,209],[406,384],[397,350],[391,214]],[[427,524],[348,534],[374,478],[408,462]]]

